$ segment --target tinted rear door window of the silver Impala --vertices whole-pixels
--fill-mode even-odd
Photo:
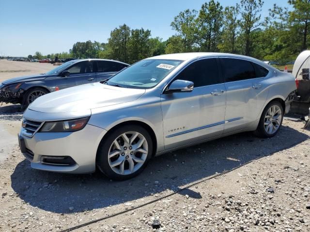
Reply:
[[[255,70],[250,61],[243,59],[221,58],[225,70],[225,82],[255,78]]]

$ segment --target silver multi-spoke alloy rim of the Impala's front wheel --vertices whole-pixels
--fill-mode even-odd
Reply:
[[[136,131],[128,131],[118,136],[109,148],[110,168],[117,174],[129,175],[138,171],[146,161],[148,143]]]

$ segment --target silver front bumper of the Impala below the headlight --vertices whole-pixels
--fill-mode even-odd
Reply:
[[[96,169],[96,153],[106,130],[86,125],[76,132],[37,132],[32,137],[25,136],[21,129],[19,137],[24,141],[23,155],[31,161],[34,169],[83,174],[92,173]],[[47,164],[47,157],[70,157],[71,165]]]

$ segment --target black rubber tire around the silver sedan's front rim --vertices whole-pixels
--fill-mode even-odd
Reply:
[[[124,175],[124,174],[118,174],[112,170],[112,168],[109,165],[108,154],[109,149],[113,144],[114,140],[116,140],[121,134],[126,133],[128,131],[136,131],[144,136],[148,145],[148,152],[146,160],[137,171],[135,171],[132,174]],[[139,125],[125,125],[123,127],[117,128],[109,132],[108,136],[105,136],[105,138],[101,141],[98,147],[96,165],[103,174],[105,174],[108,178],[112,180],[118,180],[118,181],[127,180],[137,176],[143,171],[143,169],[147,165],[148,160],[151,159],[152,154],[153,154],[153,141],[149,132]]]

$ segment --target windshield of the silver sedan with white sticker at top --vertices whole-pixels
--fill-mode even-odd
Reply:
[[[144,59],[115,74],[106,83],[119,87],[151,88],[181,63],[182,60]]]

